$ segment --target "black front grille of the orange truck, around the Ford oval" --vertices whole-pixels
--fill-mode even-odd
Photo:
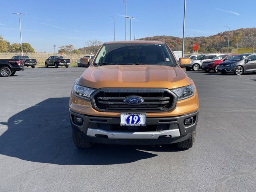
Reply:
[[[144,102],[138,105],[126,104],[124,99],[130,96],[138,96]],[[170,90],[154,88],[102,88],[97,90],[91,99],[96,110],[106,112],[166,112],[176,105],[176,96]]]

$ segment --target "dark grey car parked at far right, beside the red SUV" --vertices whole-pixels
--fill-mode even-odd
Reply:
[[[246,53],[233,57],[219,64],[218,72],[222,74],[234,73],[242,75],[247,72],[256,72],[256,54]]]

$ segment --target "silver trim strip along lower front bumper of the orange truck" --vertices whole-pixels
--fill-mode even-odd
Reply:
[[[109,139],[158,139],[159,136],[170,135],[172,138],[179,137],[179,129],[152,131],[152,132],[114,132],[101,129],[88,128],[86,135],[95,137],[96,134],[107,135]]]

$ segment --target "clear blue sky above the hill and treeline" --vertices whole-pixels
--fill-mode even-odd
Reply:
[[[126,0],[127,16],[135,16],[132,37],[167,35],[182,37],[183,0]],[[0,35],[20,42],[18,15],[22,15],[22,39],[38,52],[73,44],[75,48],[97,39],[124,40],[125,6],[122,0],[8,0],[1,2]],[[227,30],[256,27],[255,0],[187,0],[185,36],[209,36]],[[253,18],[253,19],[250,19]],[[130,20],[127,20],[130,39]]]

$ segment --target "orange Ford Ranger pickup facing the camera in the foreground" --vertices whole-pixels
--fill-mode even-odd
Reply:
[[[193,146],[198,94],[180,58],[164,42],[104,43],[72,88],[69,103],[76,147],[104,144]]]

